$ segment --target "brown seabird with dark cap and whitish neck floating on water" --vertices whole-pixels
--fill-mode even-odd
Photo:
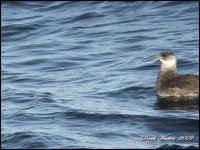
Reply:
[[[176,66],[177,60],[172,52],[161,52],[155,59],[161,62],[156,81],[158,96],[199,97],[199,76],[179,74]]]

